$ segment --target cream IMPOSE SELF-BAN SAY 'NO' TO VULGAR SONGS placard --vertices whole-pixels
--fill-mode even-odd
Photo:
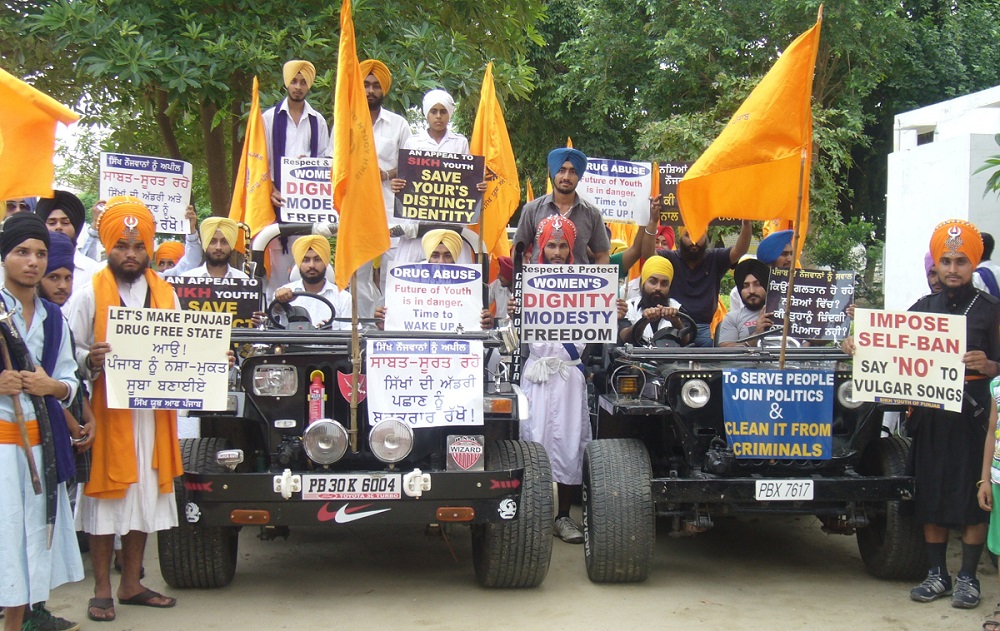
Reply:
[[[857,309],[855,401],[961,412],[965,316]]]

